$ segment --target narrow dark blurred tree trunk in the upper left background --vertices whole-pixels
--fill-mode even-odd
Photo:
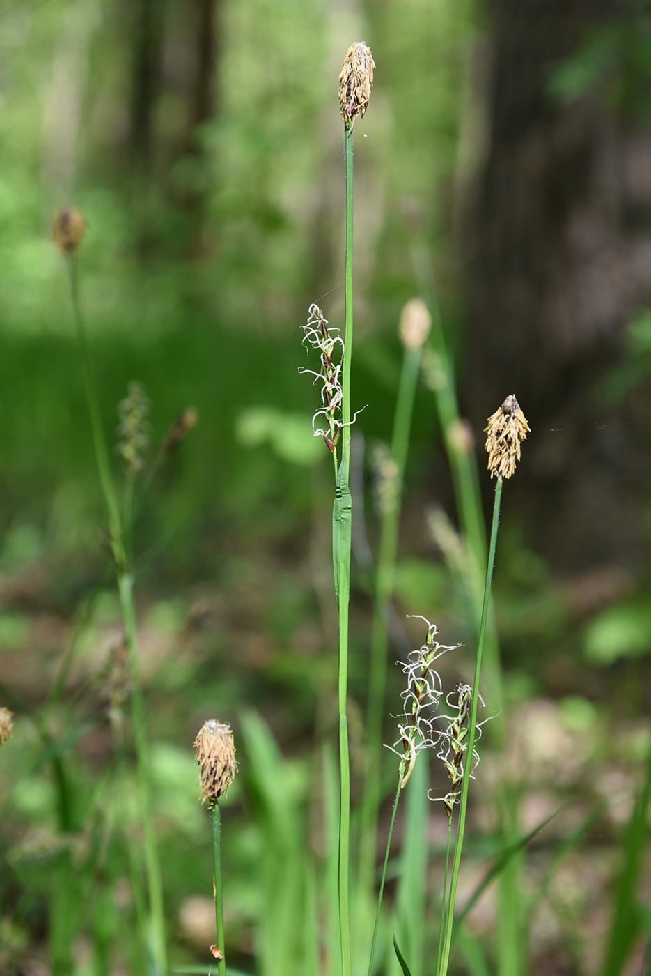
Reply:
[[[205,230],[210,181],[197,130],[218,101],[220,9],[220,0],[136,0],[132,10],[130,164],[141,258],[165,247],[171,204],[183,214],[168,238],[172,251],[211,253]]]

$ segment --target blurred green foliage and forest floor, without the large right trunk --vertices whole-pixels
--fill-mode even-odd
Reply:
[[[233,965],[290,976],[287,959],[300,957],[301,940],[310,935],[297,906],[302,912],[316,897],[315,879],[302,874],[308,849],[323,867],[319,883],[328,883],[334,801],[328,790],[336,783],[329,752],[336,731],[331,461],[310,434],[318,387],[298,367],[308,365],[300,326],[310,303],[320,301],[332,325],[343,319],[336,79],[358,37],[373,50],[377,70],[371,106],[356,127],[352,395],[354,410],[365,405],[356,432],[367,449],[390,439],[402,357],[397,325],[417,291],[409,250],[414,206],[464,384],[463,227],[488,112],[480,77],[491,28],[483,8],[470,0],[386,0],[367,10],[325,0],[221,0],[211,112],[197,123],[201,7],[190,0],[0,4],[0,704],[16,713],[14,738],[0,752],[0,970],[13,976],[50,972],[53,865],[62,844],[79,868],[75,976],[144,972],[125,920],[132,895],[120,841],[121,832],[137,831],[135,785],[125,781],[120,796],[111,790],[105,684],[111,649],[121,639],[120,615],[66,269],[51,241],[57,207],[74,204],[88,220],[81,295],[109,442],[117,441],[117,404],[133,380],[151,400],[150,463],[181,410],[192,405],[200,418],[143,493],[134,540],[173,965],[207,972],[211,962],[210,825],[197,801],[191,751],[205,719],[233,725],[241,762],[223,811]],[[160,64],[144,134],[134,122],[134,100],[142,69],[138,18],[146,10]],[[628,43],[626,32],[619,37],[607,35],[615,51]],[[589,38],[559,70],[562,98],[594,82],[600,63],[591,60],[594,50],[601,49]],[[646,63],[643,46],[639,58]],[[614,396],[647,382],[644,314],[632,322],[631,354],[608,380]],[[514,391],[526,413],[526,391]],[[485,416],[497,405],[486,403]],[[474,434],[480,446],[481,430]],[[119,479],[117,453],[114,469]],[[373,549],[377,521],[364,471],[365,532]],[[615,924],[611,956],[603,948],[615,878],[625,878],[625,895],[615,904],[627,907],[626,892],[637,890],[637,875],[618,874],[627,852],[625,868],[639,862],[640,890],[648,893],[648,796],[638,799],[637,820],[631,819],[649,748],[648,590],[644,580],[618,589],[609,578],[586,584],[605,588],[603,599],[579,592],[578,584],[569,592],[535,551],[526,517],[510,516],[509,487],[494,596],[519,831],[527,834],[560,813],[526,855],[518,852],[514,897],[523,891],[529,902],[517,938],[528,948],[518,945],[519,961],[500,976],[592,973],[604,958],[618,958],[612,948],[618,938],[620,956],[633,961],[642,959],[648,941],[648,905],[635,903],[632,928]],[[487,499],[487,475],[482,489]],[[469,643],[467,597],[426,528],[429,509],[442,506],[454,524],[456,511],[434,396],[424,384],[416,394],[404,505],[399,615],[425,614],[439,624],[444,642]],[[609,601],[609,582],[624,599]],[[586,611],[577,614],[584,597]],[[367,573],[354,558],[354,792],[364,761],[370,618]],[[404,629],[408,651],[422,634],[411,621]],[[64,693],[47,704],[70,648]],[[446,662],[450,687],[472,673],[473,650]],[[401,687],[396,669],[388,743]],[[486,708],[492,713],[488,701]],[[41,721],[55,744],[50,752],[39,739]],[[71,827],[63,839],[53,755],[68,777]],[[482,758],[472,786],[462,900],[503,854],[491,820],[496,763],[490,753],[485,764]],[[395,789],[394,765],[387,759],[387,795]],[[433,769],[432,777],[433,788],[444,790],[443,771]],[[432,918],[444,842],[439,806],[427,810]],[[418,810],[410,815],[417,821]],[[389,904],[397,875],[411,876],[407,868],[419,856],[411,851],[401,862],[403,834],[399,819]],[[281,837],[286,847],[278,846]],[[279,887],[288,908],[275,905]],[[409,907],[400,898],[398,906],[408,941]],[[496,971],[499,910],[487,894],[469,916],[454,956],[458,971]],[[387,959],[382,971],[394,973],[389,915],[385,927],[379,964]],[[427,976],[436,933],[430,926],[411,945],[418,939],[422,960],[413,974]],[[607,964],[604,972],[620,971],[617,961]]]

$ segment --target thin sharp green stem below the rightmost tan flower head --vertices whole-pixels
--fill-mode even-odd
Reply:
[[[483,641],[486,635],[486,624],[488,621],[488,604],[490,601],[490,586],[493,579],[493,565],[495,563],[495,548],[497,545],[497,528],[500,518],[500,501],[502,499],[502,478],[498,477],[495,486],[495,502],[493,504],[493,521],[490,530],[490,546],[488,548],[488,562],[486,565],[486,583],[483,590],[483,605],[481,607],[481,624],[479,626],[479,640],[477,648],[477,658],[475,660],[475,676],[473,678],[473,700],[470,710],[470,728],[468,730],[468,746],[464,759],[463,783],[461,786],[461,801],[459,805],[459,823],[457,827],[457,837],[454,844],[454,858],[452,860],[452,874],[450,877],[450,893],[447,901],[447,915],[445,917],[445,929],[443,939],[443,951],[440,960],[440,968],[437,976],[445,976],[450,955],[450,944],[452,942],[452,926],[454,924],[454,902],[456,899],[457,879],[459,877],[459,865],[461,863],[461,849],[463,847],[464,830],[466,827],[466,811],[468,808],[468,786],[470,774],[473,766],[473,749],[475,747],[475,733],[477,729],[477,710],[479,700],[479,673],[481,671],[481,655],[483,652]]]

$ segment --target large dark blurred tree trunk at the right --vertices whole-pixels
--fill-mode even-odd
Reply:
[[[651,396],[638,386],[613,405],[599,385],[621,359],[627,322],[651,304],[651,132],[634,112],[607,107],[603,84],[565,104],[550,94],[586,31],[607,32],[633,8],[491,0],[490,9],[489,145],[466,242],[466,408],[481,429],[517,395],[532,433],[509,510],[556,570],[639,575]]]

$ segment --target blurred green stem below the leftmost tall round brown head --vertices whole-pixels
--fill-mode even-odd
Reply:
[[[135,608],[133,578],[129,571],[125,537],[123,532],[120,508],[118,505],[115,486],[111,476],[106,440],[101,425],[99,403],[96,395],[91,361],[86,340],[86,327],[79,299],[79,282],[75,255],[67,259],[70,274],[70,291],[74,309],[77,340],[79,345],[82,376],[86,391],[86,400],[91,419],[93,442],[95,445],[97,471],[99,483],[108,516],[108,527],[111,539],[111,549],[115,563],[120,595],[125,641],[129,654],[129,669],[132,680],[132,717],[134,723],[135,753],[138,766],[138,784],[140,789],[140,816],[144,841],[144,862],[149,889],[149,931],[148,942],[151,956],[152,972],[155,976],[165,976],[167,973],[167,950],[165,943],[165,912],[163,905],[163,884],[160,862],[156,847],[154,818],[151,799],[149,746],[145,725],[144,699],[135,647]]]

